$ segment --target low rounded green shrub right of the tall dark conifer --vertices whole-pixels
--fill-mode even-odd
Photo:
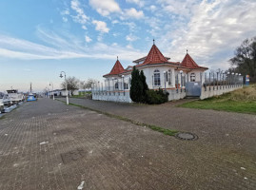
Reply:
[[[148,104],[163,104],[168,101],[168,92],[164,92],[162,89],[147,91],[147,103]]]

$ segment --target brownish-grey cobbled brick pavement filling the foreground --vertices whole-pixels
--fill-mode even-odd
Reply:
[[[256,188],[256,133],[251,123],[255,116],[168,104],[70,102],[194,132],[200,139],[181,141],[87,109],[39,99],[0,119],[0,189]]]

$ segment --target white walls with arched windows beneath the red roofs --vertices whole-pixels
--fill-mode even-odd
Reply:
[[[138,67],[139,70],[143,70],[146,76],[146,82],[149,89],[156,88],[167,88],[173,89],[181,86],[185,86],[187,82],[198,82],[203,84],[205,82],[204,70],[191,70],[179,69],[177,70],[174,66],[145,66]],[[182,73],[181,73],[182,70]],[[156,77],[160,76],[159,84],[156,82]],[[129,89],[131,80],[131,71],[124,73],[123,75],[117,75],[115,77],[106,77],[104,90],[115,91]],[[166,82],[166,83],[165,83]],[[126,86],[123,86],[123,83]],[[118,84],[118,85],[116,85]],[[102,90],[103,84],[96,84],[97,89]],[[118,87],[117,87],[118,86]]]

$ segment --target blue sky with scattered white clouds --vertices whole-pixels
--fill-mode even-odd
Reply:
[[[146,56],[152,40],[171,61],[229,67],[256,36],[255,0],[1,0],[0,91],[59,88],[60,71],[102,80],[116,61]]]

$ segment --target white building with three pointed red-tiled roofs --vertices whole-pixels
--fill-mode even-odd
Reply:
[[[153,45],[148,56],[133,61],[138,70],[143,70],[149,89],[165,89],[169,92],[168,100],[182,99],[186,96],[187,82],[203,84],[207,67],[198,66],[187,53],[182,63],[170,62],[161,51]],[[104,77],[104,83],[92,85],[92,99],[115,102],[130,102],[117,97],[129,92],[132,66],[127,69],[117,59],[110,72]]]

